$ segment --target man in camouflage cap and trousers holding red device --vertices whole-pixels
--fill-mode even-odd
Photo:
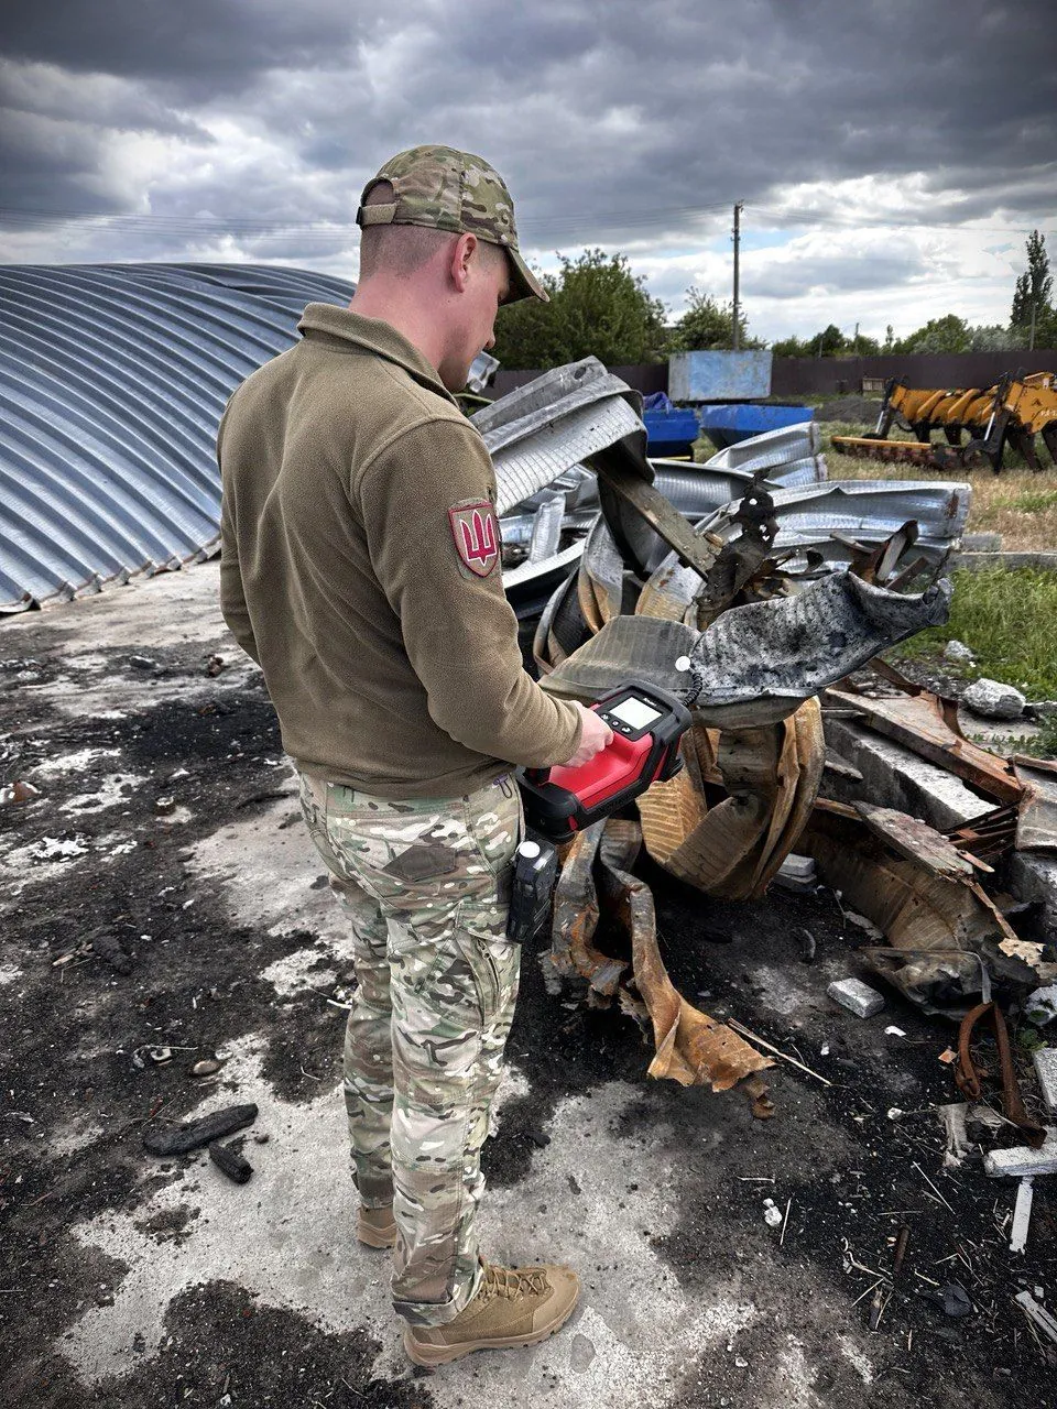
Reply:
[[[510,194],[479,156],[417,147],[357,221],[350,307],[309,304],[224,413],[221,603],[350,914],[358,1236],[395,1244],[404,1344],[434,1365],[543,1340],[579,1292],[568,1268],[485,1262],[474,1215],[517,995],[510,765],[582,764],[612,735],[521,666],[492,464],[451,395],[499,306],[547,297]]]

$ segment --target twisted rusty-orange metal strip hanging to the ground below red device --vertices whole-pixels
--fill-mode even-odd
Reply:
[[[558,974],[576,974],[589,985],[589,1002],[650,1023],[657,1053],[648,1075],[684,1086],[730,1091],[743,1084],[761,1119],[774,1113],[760,1072],[772,1067],[743,1037],[699,1012],[672,985],[657,945],[657,917],[650,888],[631,875],[641,845],[634,821],[607,819],[574,840],[555,895],[551,962]],[[600,954],[592,938],[605,916],[631,950],[627,964]]]

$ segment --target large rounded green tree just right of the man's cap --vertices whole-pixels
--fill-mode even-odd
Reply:
[[[607,366],[653,362],[665,341],[664,304],[626,255],[585,249],[558,255],[561,269],[544,275],[550,303],[524,299],[500,310],[495,355],[507,368],[551,368],[596,356]]]

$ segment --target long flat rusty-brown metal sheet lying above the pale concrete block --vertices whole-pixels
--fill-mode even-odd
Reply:
[[[905,744],[947,772],[957,774],[985,797],[1019,803],[1023,785],[1012,764],[970,743],[958,727],[958,707],[930,690],[915,696],[867,699],[851,690],[832,689],[827,700],[854,709],[878,734]]]

